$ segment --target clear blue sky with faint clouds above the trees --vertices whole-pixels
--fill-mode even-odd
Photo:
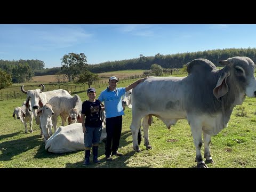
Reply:
[[[225,48],[256,46],[252,24],[28,24],[0,25],[0,59],[32,60],[61,67],[70,52],[87,63]]]

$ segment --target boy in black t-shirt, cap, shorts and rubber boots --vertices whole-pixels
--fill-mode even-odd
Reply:
[[[102,131],[102,121],[100,119],[100,110],[103,107],[100,106],[100,101],[95,100],[96,90],[90,87],[87,90],[87,96],[89,100],[85,100],[82,104],[82,126],[84,132],[84,146],[85,146],[85,161],[83,165],[89,165],[90,152],[92,147],[93,163],[100,163],[98,159],[98,147]],[[86,118],[84,119],[84,117]]]

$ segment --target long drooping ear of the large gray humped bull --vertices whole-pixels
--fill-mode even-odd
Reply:
[[[215,98],[218,99],[218,101],[220,101],[220,97],[222,97],[228,92],[227,77],[229,75],[229,73],[223,72],[217,82],[217,85],[213,89],[213,94]]]

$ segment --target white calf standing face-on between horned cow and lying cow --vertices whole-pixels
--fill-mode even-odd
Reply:
[[[46,103],[43,107],[37,110],[37,114],[40,116],[41,127],[44,135],[44,142],[49,138],[49,133],[52,135],[52,118],[54,115],[52,106]]]

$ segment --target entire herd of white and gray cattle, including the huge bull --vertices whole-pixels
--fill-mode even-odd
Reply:
[[[256,97],[255,64],[250,58],[233,57],[219,62],[225,67],[217,69],[207,59],[195,59],[188,63],[186,77],[147,77],[133,90],[126,92],[122,105],[123,109],[132,108],[130,129],[135,151],[140,151],[141,126],[144,145],[146,149],[151,149],[148,131],[153,116],[161,119],[168,129],[179,119],[187,119],[194,139],[197,167],[213,163],[209,148],[211,136],[227,127],[233,108],[242,105],[246,96]],[[21,107],[15,107],[13,117],[16,115],[21,120],[26,133],[27,122],[30,132],[33,132],[32,120],[35,117],[47,151],[65,153],[83,150],[81,99],[61,89],[43,92],[44,85],[41,86],[42,90],[28,91],[21,86],[27,99]],[[103,113],[101,115],[105,118]],[[57,129],[58,116],[62,124]],[[67,118],[69,125],[64,126]],[[101,141],[106,138],[105,123],[102,124]],[[201,155],[203,144],[205,161]]]

